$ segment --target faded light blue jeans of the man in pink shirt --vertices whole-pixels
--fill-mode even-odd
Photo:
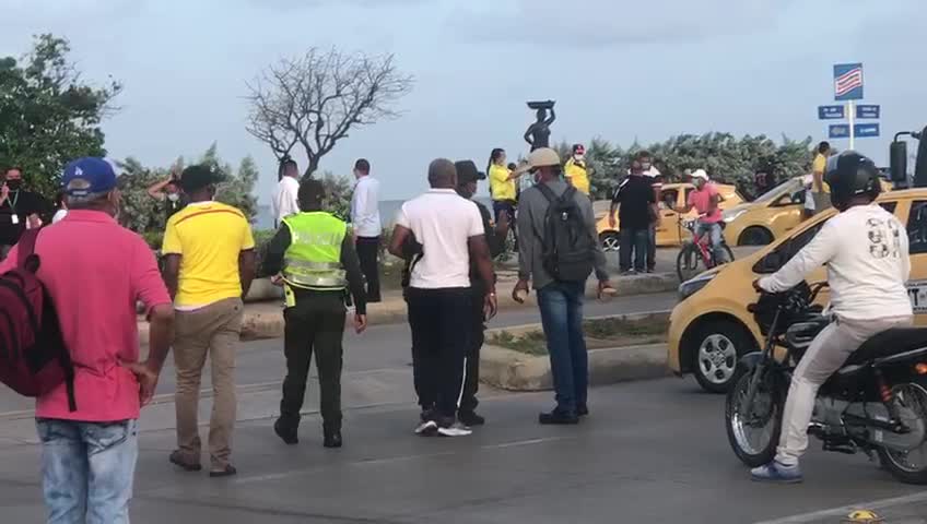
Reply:
[[[139,456],[138,420],[40,418],[36,426],[48,524],[127,524]]]

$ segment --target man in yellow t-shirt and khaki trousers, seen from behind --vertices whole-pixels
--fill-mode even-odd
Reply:
[[[174,298],[177,368],[177,450],[171,462],[190,472],[200,465],[198,406],[207,354],[212,360],[213,405],[209,430],[210,476],[235,475],[235,353],[244,303],[255,277],[255,240],[245,215],[213,202],[219,174],[190,166],[180,176],[189,204],[167,221],[164,279]]]

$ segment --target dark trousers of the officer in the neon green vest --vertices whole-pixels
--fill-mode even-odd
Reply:
[[[283,312],[286,321],[284,353],[286,378],[280,416],[300,424],[313,353],[319,377],[321,418],[326,427],[341,428],[341,366],[344,335],[344,299],[341,291],[297,291],[296,306]]]

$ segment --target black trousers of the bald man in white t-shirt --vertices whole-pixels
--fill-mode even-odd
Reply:
[[[472,291],[468,287],[412,287],[408,301],[419,405],[423,409],[434,407],[443,417],[454,417],[462,395],[467,353],[471,348]]]

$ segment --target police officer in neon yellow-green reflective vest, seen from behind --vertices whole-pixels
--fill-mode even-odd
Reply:
[[[318,180],[300,186],[301,213],[283,219],[268,247],[265,269],[280,273],[286,298],[283,312],[286,378],[280,418],[273,430],[283,442],[298,442],[300,410],[313,353],[318,369],[326,448],[341,448],[341,365],[347,309],[345,290],[354,297],[354,330],[366,329],[366,291],[351,231],[321,211],[325,189]]]

